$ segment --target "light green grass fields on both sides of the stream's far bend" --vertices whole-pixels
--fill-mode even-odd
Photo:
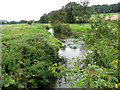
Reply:
[[[20,36],[24,37],[31,34],[44,34],[49,35],[50,33],[45,30],[45,26],[51,27],[50,24],[13,24],[13,25],[2,25],[2,38],[3,41],[10,40],[12,38],[18,39]],[[70,24],[71,32],[86,31],[89,28],[89,24]]]

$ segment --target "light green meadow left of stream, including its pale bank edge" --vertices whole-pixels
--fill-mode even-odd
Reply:
[[[32,34],[42,34],[49,36],[50,33],[44,28],[45,25],[50,26],[50,24],[13,24],[13,25],[2,25],[2,40],[8,43],[9,40],[15,41],[24,39]],[[56,39],[53,37],[44,38],[50,40],[51,43],[55,43]]]

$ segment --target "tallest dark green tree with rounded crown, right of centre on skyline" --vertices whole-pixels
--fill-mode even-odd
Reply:
[[[70,2],[65,6],[65,10],[67,12],[67,19],[68,23],[75,23],[75,22],[85,22],[85,19],[90,17],[89,15],[89,1],[81,1],[80,3]]]

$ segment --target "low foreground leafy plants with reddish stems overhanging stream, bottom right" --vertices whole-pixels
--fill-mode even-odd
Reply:
[[[66,68],[62,64],[49,67],[49,70],[54,74],[54,76],[65,79],[65,83],[70,83],[71,87],[76,88],[114,88],[115,84],[118,83],[118,78],[116,75],[118,60],[116,63],[112,64],[114,68],[103,68],[96,65],[79,66],[78,61],[72,63],[73,67]],[[70,63],[71,64],[71,63]],[[58,66],[58,67],[56,67]],[[59,71],[59,72],[58,72]],[[66,77],[67,76],[67,77]]]

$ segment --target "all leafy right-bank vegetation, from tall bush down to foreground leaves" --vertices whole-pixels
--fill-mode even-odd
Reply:
[[[62,76],[71,87],[77,88],[117,88],[118,75],[118,32],[117,21],[96,17],[90,20],[91,29],[84,35],[87,49],[92,53],[86,59],[77,59],[73,67],[62,64],[50,67],[55,76]],[[73,58],[74,60],[75,58]]]

